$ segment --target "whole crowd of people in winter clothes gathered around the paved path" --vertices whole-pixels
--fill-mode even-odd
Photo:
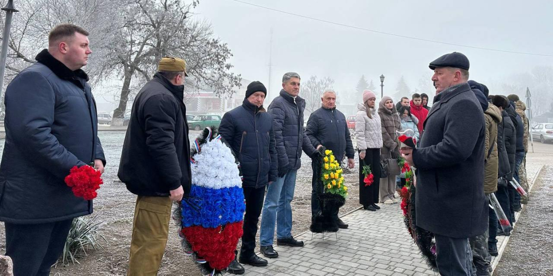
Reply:
[[[0,220],[6,225],[6,254],[14,275],[48,275],[60,256],[74,217],[92,213],[92,200],[77,198],[64,177],[74,166],[106,164],[97,137],[96,107],[82,66],[92,53],[86,30],[61,24],[50,31],[49,48],[23,70],[6,91],[6,146],[0,167]],[[494,193],[511,224],[526,197],[509,183],[526,184],[528,119],[517,95],[489,95],[468,80],[469,62],[453,52],[430,63],[436,87],[433,106],[427,94],[388,96],[376,103],[364,91],[355,120],[359,157],[359,203],[377,211],[378,203],[398,202],[395,190],[405,184],[399,169],[382,174],[381,163],[399,157],[416,172],[417,226],[435,234],[437,266],[442,275],[489,275],[497,256],[498,228],[486,194]],[[183,103],[186,62],[164,57],[158,72],[137,94],[123,144],[118,177],[137,195],[128,275],[155,275],[169,231],[171,203],[190,193],[189,130]],[[255,254],[260,224],[260,252],[278,258],[276,244],[301,247],[291,235],[296,174],[302,151],[321,158],[332,150],[339,163],[354,168],[355,149],[345,115],[336,109],[336,92],[321,94],[321,107],[304,129],[306,102],[298,73],[285,73],[278,97],[264,108],[267,89],[252,82],[241,106],[227,112],[219,133],[239,160],[246,212],[240,252],[227,271],[245,272],[241,264],[267,266]],[[92,127],[91,127],[92,126]],[[398,131],[413,130],[416,148],[400,147]],[[374,182],[365,185],[363,166]],[[315,166],[315,162],[312,163]],[[315,171],[315,169],[314,169]],[[320,213],[312,180],[312,218]],[[336,211],[333,219],[347,229]]]

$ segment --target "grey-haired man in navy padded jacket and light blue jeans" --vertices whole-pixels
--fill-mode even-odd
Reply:
[[[280,95],[269,105],[273,115],[276,153],[278,156],[278,179],[267,188],[261,217],[261,252],[267,258],[276,258],[273,248],[276,224],[276,244],[280,246],[304,246],[304,242],[292,236],[292,207],[296,187],[296,172],[301,166],[301,151],[308,156],[319,154],[311,145],[304,131],[305,100],[300,98],[300,76],[285,73],[282,77]]]

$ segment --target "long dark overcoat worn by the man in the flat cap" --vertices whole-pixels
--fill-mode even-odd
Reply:
[[[454,238],[488,229],[485,139],[482,107],[468,84],[436,95],[420,147],[413,150],[417,226]]]

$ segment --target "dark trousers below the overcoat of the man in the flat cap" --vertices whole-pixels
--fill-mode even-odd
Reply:
[[[472,253],[468,238],[435,235],[436,264],[442,276],[471,275]]]

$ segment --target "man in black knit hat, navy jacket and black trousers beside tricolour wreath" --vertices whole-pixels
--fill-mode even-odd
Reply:
[[[219,126],[219,134],[238,157],[243,176],[246,214],[238,260],[255,267],[267,266],[267,260],[259,258],[254,252],[255,234],[263,208],[265,186],[277,178],[273,117],[263,108],[265,95],[267,89],[263,83],[250,83],[242,105],[225,113]],[[244,268],[235,260],[227,271],[242,274]]]

